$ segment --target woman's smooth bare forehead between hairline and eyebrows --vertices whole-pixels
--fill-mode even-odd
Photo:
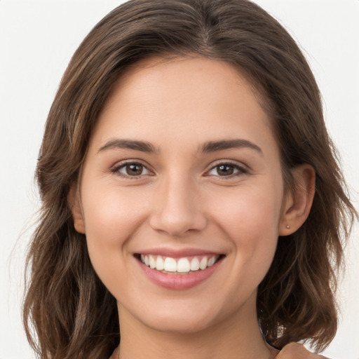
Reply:
[[[118,79],[94,135],[97,142],[116,134],[161,145],[181,136],[187,142],[240,135],[256,140],[260,128],[271,134],[261,96],[233,65],[204,57],[151,57]]]

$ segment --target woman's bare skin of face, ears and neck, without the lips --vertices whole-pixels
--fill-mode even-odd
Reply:
[[[202,150],[234,139],[245,146]],[[154,151],[118,147],[118,140],[148,142]],[[128,175],[126,163],[143,165],[139,175]],[[220,164],[233,174],[219,172]],[[94,269],[118,302],[121,348],[114,355],[274,358],[278,351],[259,332],[257,287],[278,236],[309,214],[313,169],[302,165],[293,175],[304,191],[286,193],[271,119],[231,65],[154,57],[122,76],[70,196],[75,228],[86,233]],[[151,248],[225,257],[203,283],[168,290],[151,283],[135,258]]]

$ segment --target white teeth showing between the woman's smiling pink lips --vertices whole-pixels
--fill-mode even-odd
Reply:
[[[144,265],[161,273],[186,275],[203,271],[217,263],[224,255],[201,255],[172,258],[162,255],[135,255]]]

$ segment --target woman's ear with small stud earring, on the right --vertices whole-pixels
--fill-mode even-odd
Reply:
[[[288,236],[302,226],[309,216],[316,191],[316,172],[311,165],[298,165],[292,169],[292,177],[294,189],[289,189],[285,197],[279,236]]]

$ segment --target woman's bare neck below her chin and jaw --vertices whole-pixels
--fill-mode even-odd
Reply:
[[[161,332],[118,307],[121,359],[272,359],[278,353],[265,343],[254,308],[246,308],[198,332]],[[116,353],[116,354],[117,354]]]

